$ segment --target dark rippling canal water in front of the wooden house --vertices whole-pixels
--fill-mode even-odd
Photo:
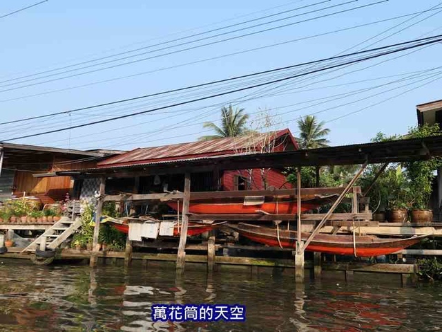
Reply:
[[[441,331],[442,286],[172,267],[0,262],[0,331]],[[153,322],[152,304],[243,304],[239,322]]]

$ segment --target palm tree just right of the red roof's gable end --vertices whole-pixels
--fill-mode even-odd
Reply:
[[[329,140],[326,136],[330,129],[324,128],[325,122],[318,122],[315,116],[305,116],[298,120],[300,131],[298,145],[301,149],[316,149],[318,147],[328,147]]]

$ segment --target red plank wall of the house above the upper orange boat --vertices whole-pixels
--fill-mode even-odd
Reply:
[[[251,170],[251,182],[250,188],[251,190],[261,190],[265,189],[262,183],[260,169],[252,169]],[[293,186],[290,183],[286,183],[286,178],[282,172],[276,169],[265,169],[265,178],[267,182],[267,189],[269,187],[279,188],[292,188]],[[222,190],[236,190],[234,178],[236,175],[244,176],[244,178],[250,178],[250,172],[247,170],[236,170],[236,171],[225,171],[222,174]]]

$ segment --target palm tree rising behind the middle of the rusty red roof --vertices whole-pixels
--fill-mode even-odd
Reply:
[[[244,109],[233,109],[232,105],[229,107],[222,107],[221,109],[221,126],[218,127],[213,122],[204,122],[204,128],[211,128],[216,135],[202,136],[198,140],[216,140],[224,137],[241,136],[247,133],[246,122],[249,119],[248,114],[244,114]]]

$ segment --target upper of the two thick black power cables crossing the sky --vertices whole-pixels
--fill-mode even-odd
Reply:
[[[50,116],[58,116],[61,114],[68,114],[68,113],[73,113],[73,112],[77,112],[77,111],[84,111],[86,109],[95,109],[97,107],[104,107],[104,106],[108,106],[108,105],[112,105],[112,104],[119,104],[122,102],[129,102],[132,100],[140,100],[140,99],[144,99],[144,98],[149,98],[149,97],[153,97],[153,96],[157,96],[157,95],[164,95],[164,94],[168,94],[168,93],[175,93],[178,91],[184,91],[184,90],[189,90],[189,89],[195,89],[195,88],[200,88],[202,86],[209,86],[209,85],[213,85],[213,84],[218,84],[218,83],[222,83],[222,82],[229,82],[232,80],[238,80],[238,79],[242,79],[245,77],[252,77],[252,76],[256,76],[256,75],[262,75],[262,74],[267,74],[267,73],[273,73],[273,72],[277,72],[277,71],[284,71],[290,68],[296,68],[296,67],[300,67],[300,66],[306,66],[306,65],[310,65],[310,64],[318,64],[321,62],[326,62],[329,60],[334,60],[334,59],[343,59],[345,57],[349,57],[349,56],[353,56],[353,55],[361,55],[364,53],[369,53],[369,52],[374,52],[374,51],[378,51],[378,50],[384,50],[387,48],[393,48],[396,46],[403,46],[406,44],[412,44],[412,43],[419,43],[419,42],[425,42],[428,41],[430,39],[437,39],[439,37],[441,37],[442,35],[435,35],[432,37],[426,37],[426,38],[422,38],[422,39],[415,39],[412,41],[408,41],[408,42],[403,42],[403,43],[398,43],[398,44],[392,44],[392,45],[388,45],[388,46],[382,46],[382,47],[378,47],[378,48],[372,48],[370,50],[362,50],[359,52],[354,52],[354,53],[349,53],[349,54],[345,54],[345,55],[337,55],[335,57],[328,57],[325,59],[319,59],[319,60],[314,60],[314,61],[310,61],[310,62],[303,62],[301,64],[294,64],[291,66],[284,66],[284,67],[280,67],[280,68],[273,68],[267,71],[260,71],[260,72],[256,72],[256,73],[251,73],[251,74],[247,74],[247,75],[240,75],[240,76],[235,76],[235,77],[229,77],[227,79],[223,79],[223,80],[216,80],[216,81],[211,81],[211,82],[205,82],[202,84],[195,84],[195,85],[191,85],[191,86],[185,86],[183,88],[178,88],[178,89],[173,89],[173,90],[167,90],[167,91],[161,91],[161,92],[157,92],[157,93],[151,93],[148,95],[140,95],[134,98],[126,98],[126,99],[122,99],[122,100],[116,100],[113,102],[105,102],[102,104],[95,104],[93,106],[88,106],[88,107],[81,107],[79,109],[70,109],[69,111],[61,111],[61,112],[57,112],[57,113],[50,113],[50,114],[45,114],[42,116],[33,116],[30,118],[22,118],[22,119],[18,119],[18,120],[11,120],[11,121],[6,121],[6,122],[0,122],[0,125],[3,124],[12,124],[12,123],[17,123],[17,122],[23,122],[23,121],[28,121],[28,120],[35,120],[35,119],[41,119],[41,118],[48,118]],[[423,45],[430,45],[430,44],[434,44],[434,42],[425,42],[425,44],[419,44],[419,46],[423,46]],[[415,48],[418,46],[413,46],[411,48]],[[410,48],[405,48],[405,49],[410,49]]]

